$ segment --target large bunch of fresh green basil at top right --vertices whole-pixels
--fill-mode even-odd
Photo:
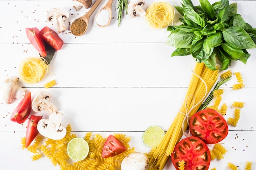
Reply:
[[[200,5],[194,6],[191,0],[182,1],[182,7],[175,6],[183,16],[182,24],[167,28],[171,34],[166,44],[177,48],[172,57],[191,54],[211,70],[217,69],[216,59],[221,70],[226,70],[232,60],[246,64],[250,56],[247,49],[256,48],[256,29],[237,13],[236,3],[199,0]]]

